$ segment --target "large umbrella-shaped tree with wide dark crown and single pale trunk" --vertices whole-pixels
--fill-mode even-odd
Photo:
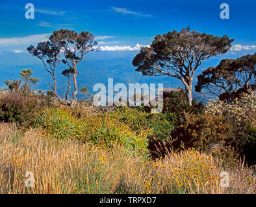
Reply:
[[[147,76],[167,75],[178,78],[185,85],[186,100],[192,105],[194,72],[203,60],[224,54],[234,39],[226,35],[212,36],[186,27],[177,32],[155,36],[150,47],[143,47],[134,59],[136,71]]]

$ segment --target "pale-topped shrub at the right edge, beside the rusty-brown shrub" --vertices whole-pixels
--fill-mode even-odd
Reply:
[[[225,102],[209,102],[205,111],[220,114],[231,125],[232,135],[227,144],[233,146],[240,155],[246,155],[250,164],[255,164],[255,129],[256,129],[256,92],[242,94],[241,98],[233,100],[230,104]]]

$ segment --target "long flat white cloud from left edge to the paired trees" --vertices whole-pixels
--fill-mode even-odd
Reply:
[[[31,36],[25,36],[21,38],[0,38],[0,45],[29,45],[32,43],[38,43],[40,41],[47,41],[49,34],[34,34]]]

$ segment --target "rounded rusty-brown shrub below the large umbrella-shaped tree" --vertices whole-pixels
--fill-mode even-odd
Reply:
[[[224,116],[185,114],[172,133],[173,146],[175,149],[195,147],[204,151],[218,146],[221,148],[231,132]]]

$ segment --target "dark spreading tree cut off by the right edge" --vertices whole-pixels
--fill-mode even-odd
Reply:
[[[209,67],[198,76],[196,92],[206,91],[230,103],[241,93],[255,90],[256,53],[233,59],[224,59],[216,67]],[[250,84],[253,82],[253,84]]]

